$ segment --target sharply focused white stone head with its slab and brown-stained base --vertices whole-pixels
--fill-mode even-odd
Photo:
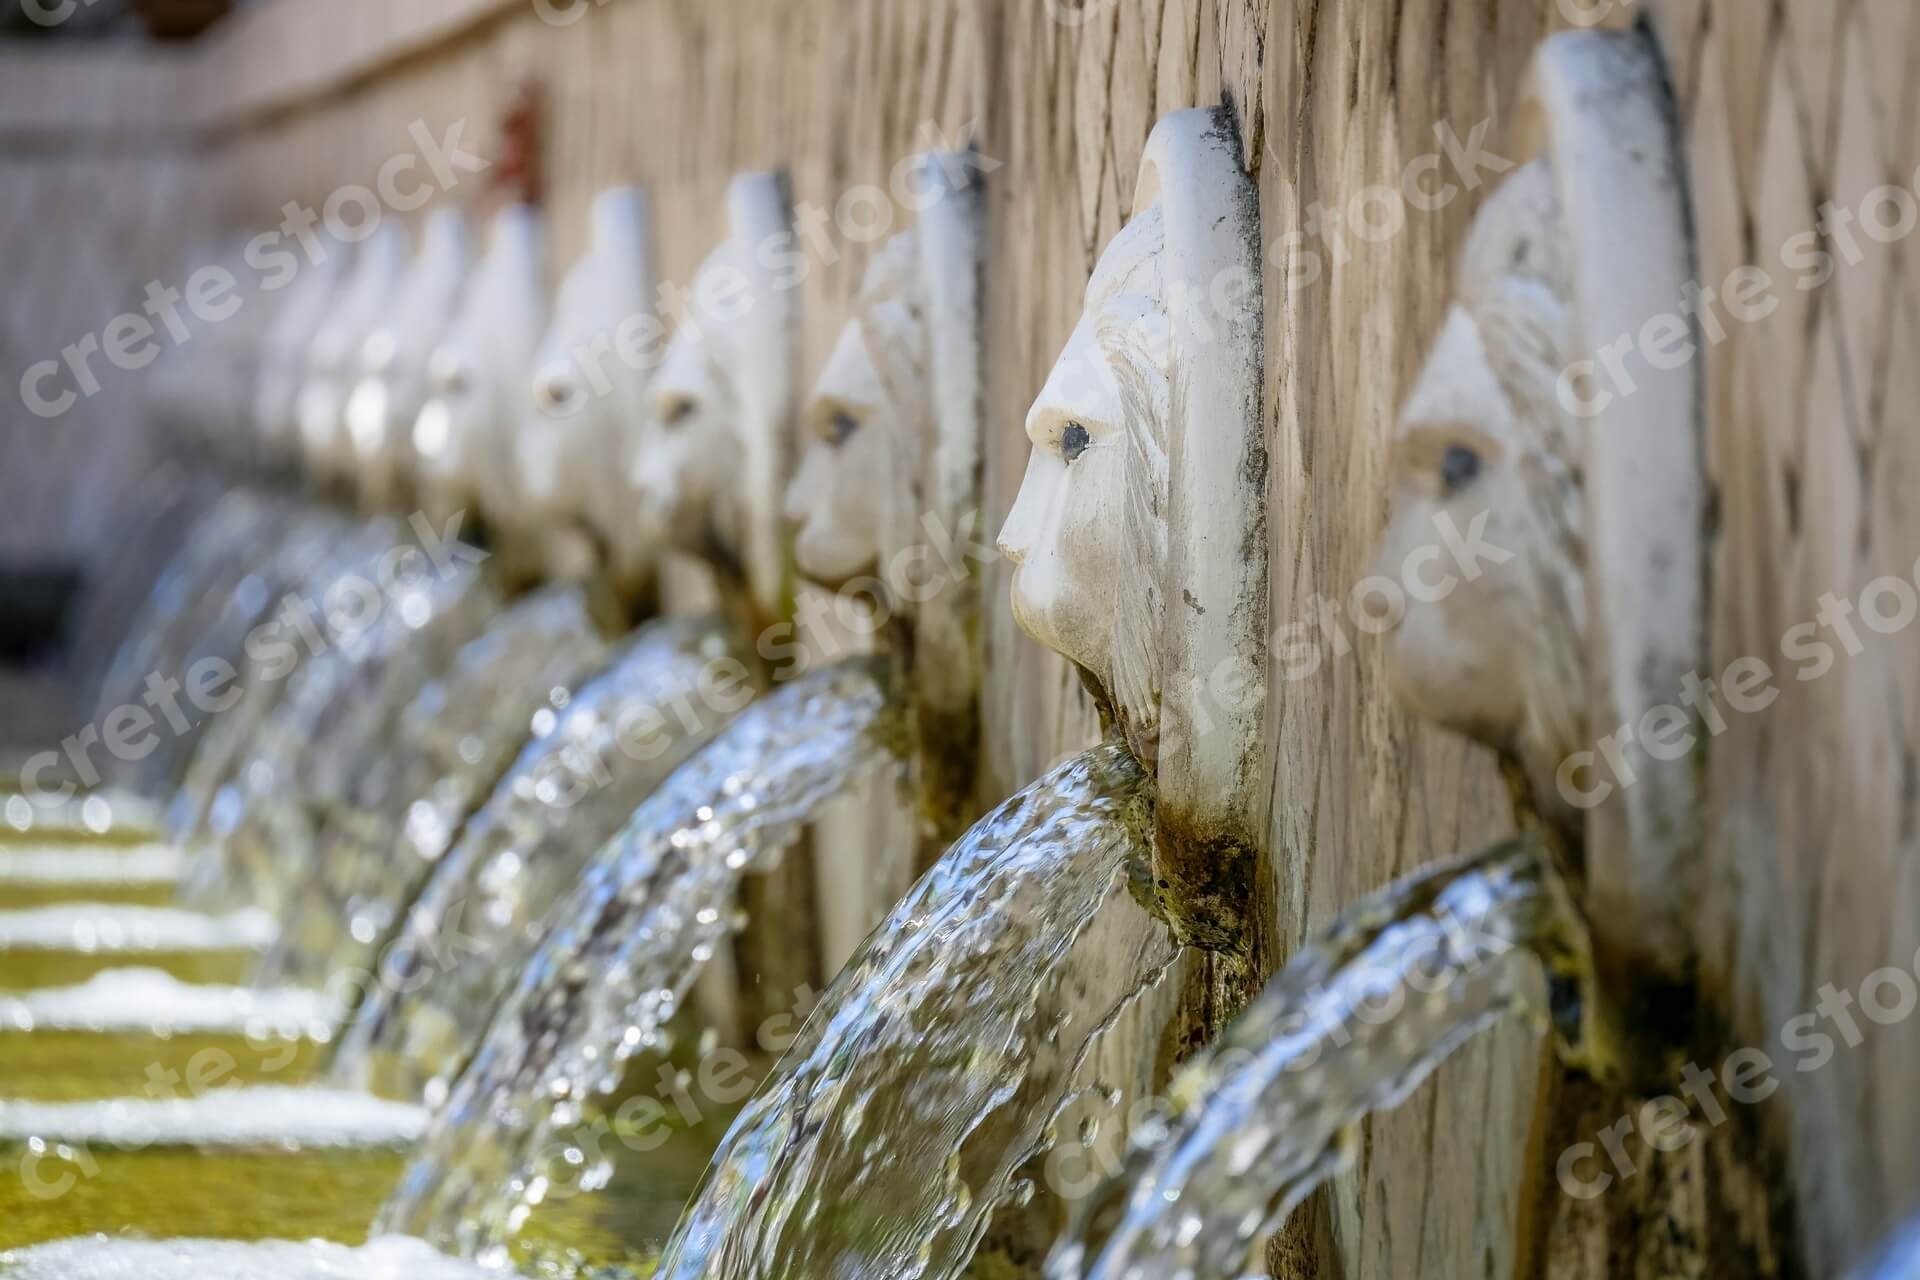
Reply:
[[[1016,620],[1081,670],[1154,773],[1165,917],[1235,954],[1267,917],[1261,315],[1233,115],[1171,111],[1027,413],[1000,532]]]

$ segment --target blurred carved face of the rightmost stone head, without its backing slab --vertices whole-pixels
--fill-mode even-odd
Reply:
[[[1569,259],[1553,173],[1532,161],[1467,236],[1453,307],[1402,407],[1375,566],[1407,583],[1386,639],[1398,697],[1519,760],[1549,812],[1588,720],[1588,428],[1555,393],[1572,359]],[[1457,547],[1475,541],[1494,551],[1469,568]]]

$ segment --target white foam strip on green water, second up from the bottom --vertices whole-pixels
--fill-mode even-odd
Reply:
[[[348,1090],[215,1088],[196,1098],[0,1102],[0,1142],[40,1138],[123,1151],[397,1148],[419,1140],[426,1119],[426,1107]]]

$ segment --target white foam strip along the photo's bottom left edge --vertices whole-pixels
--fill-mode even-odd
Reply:
[[[432,1245],[382,1236],[365,1247],[311,1240],[61,1240],[0,1253],[6,1280],[499,1280]]]

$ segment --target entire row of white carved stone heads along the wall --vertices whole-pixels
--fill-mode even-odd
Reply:
[[[1699,660],[1693,374],[1638,361],[1630,401],[1572,378],[1596,368],[1582,353],[1672,311],[1692,271],[1659,54],[1642,35],[1555,36],[1519,119],[1524,159],[1459,253],[1394,443],[1377,572],[1404,616],[1386,643],[1404,700],[1509,752],[1584,844],[1601,942],[1682,971],[1693,770],[1628,743],[1611,764],[1636,785],[1596,806],[1580,796],[1597,773],[1567,773],[1597,727],[1670,702]],[[793,205],[778,175],[745,175],[724,240],[672,292],[689,297],[678,315],[657,311],[637,188],[593,201],[589,248],[551,297],[538,209],[497,213],[478,261],[442,209],[417,249],[388,221],[303,265],[271,322],[204,342],[159,407],[369,507],[480,512],[541,572],[643,574],[687,549],[778,614],[793,547],[810,580],[897,587],[889,570],[929,528],[979,507],[993,180],[968,157],[920,161],[914,225],[872,253],[804,397]],[[1162,825],[1204,850],[1265,839],[1265,679],[1288,624],[1267,608],[1288,497],[1265,453],[1300,428],[1269,413],[1265,238],[1231,113],[1164,117],[1027,416],[1000,533],[1020,624],[1089,674],[1158,770]],[[1158,867],[1202,944],[1231,938],[1244,890],[1212,858],[1169,842]]]

